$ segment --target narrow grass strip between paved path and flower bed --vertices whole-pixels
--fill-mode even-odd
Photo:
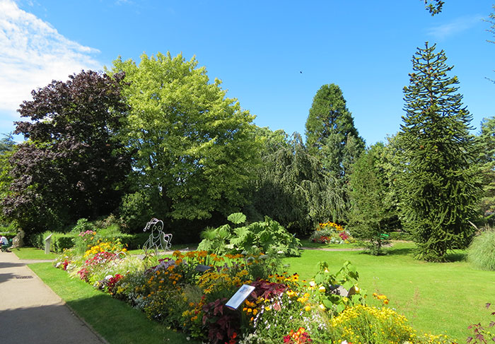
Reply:
[[[141,311],[112,299],[82,280],[69,278],[52,263],[33,263],[29,267],[109,343],[197,343],[146,319]]]

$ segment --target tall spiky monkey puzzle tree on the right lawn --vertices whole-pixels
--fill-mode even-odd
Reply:
[[[449,249],[469,243],[480,183],[471,115],[456,93],[458,78],[447,76],[453,67],[435,47],[426,42],[417,49],[404,87],[400,184],[404,225],[414,234],[417,258],[443,261]]]

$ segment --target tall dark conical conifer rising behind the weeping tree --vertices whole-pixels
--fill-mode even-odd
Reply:
[[[365,145],[339,86],[322,85],[313,98],[305,127],[309,152],[334,177],[346,179],[349,166]]]

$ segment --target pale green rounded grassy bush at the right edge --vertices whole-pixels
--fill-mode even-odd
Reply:
[[[472,239],[467,260],[476,268],[495,271],[495,230],[489,228]]]

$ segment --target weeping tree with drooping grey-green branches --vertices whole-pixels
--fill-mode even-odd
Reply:
[[[281,134],[284,135],[284,134]],[[265,148],[253,181],[252,206],[291,232],[308,233],[318,221],[344,217],[343,191],[337,180],[308,153],[299,134]]]

